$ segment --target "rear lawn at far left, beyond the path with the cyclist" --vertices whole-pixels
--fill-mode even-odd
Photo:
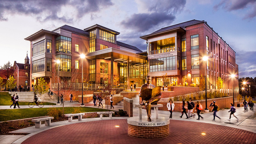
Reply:
[[[10,106],[12,104],[11,94],[8,92],[0,92],[0,106]],[[20,106],[26,106],[29,102],[19,102]],[[44,105],[56,105],[56,103],[44,102]]]

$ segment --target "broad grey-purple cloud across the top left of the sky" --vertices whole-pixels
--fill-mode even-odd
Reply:
[[[58,20],[68,23],[79,20],[85,14],[99,12],[102,7],[113,5],[111,0],[1,0],[0,2],[0,21],[7,21],[8,14],[24,14],[31,15],[40,22]]]

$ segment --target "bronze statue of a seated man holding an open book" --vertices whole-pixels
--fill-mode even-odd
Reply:
[[[148,88],[148,89],[155,88],[155,85],[151,84],[151,76],[147,76],[146,80],[147,80],[147,84],[143,84],[141,86],[141,89],[142,88]],[[139,92],[139,96],[141,96],[141,89]],[[140,105],[145,105],[145,107],[146,107],[149,122],[151,122],[151,118],[150,118],[151,117],[151,104],[152,105],[157,104],[157,102],[161,99],[161,95],[162,95],[162,93],[160,93],[159,96],[150,98],[149,100],[142,100],[142,102],[140,103]]]

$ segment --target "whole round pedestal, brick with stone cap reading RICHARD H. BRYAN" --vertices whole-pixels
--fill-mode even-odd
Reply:
[[[167,117],[159,116],[158,119],[152,118],[151,122],[148,122],[148,116],[142,116],[139,119],[138,116],[129,117],[128,123],[128,135],[141,139],[161,139],[169,136],[169,124],[170,119]]]

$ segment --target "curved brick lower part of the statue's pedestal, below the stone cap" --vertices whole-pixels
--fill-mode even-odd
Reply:
[[[161,139],[169,136],[169,124],[163,126],[135,126],[128,124],[128,135],[142,139]]]

